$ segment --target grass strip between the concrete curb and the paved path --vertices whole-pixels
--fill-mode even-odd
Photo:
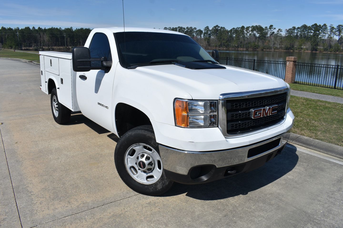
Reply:
[[[291,132],[343,146],[343,104],[291,96]]]

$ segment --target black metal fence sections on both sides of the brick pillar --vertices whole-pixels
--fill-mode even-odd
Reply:
[[[285,79],[286,61],[220,57],[219,63],[268,73]],[[343,90],[343,66],[296,63],[295,83]]]

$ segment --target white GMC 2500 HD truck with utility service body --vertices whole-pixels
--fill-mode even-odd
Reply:
[[[96,28],[72,53],[39,54],[55,121],[81,111],[116,134],[118,174],[146,195],[256,169],[293,126],[287,83],[220,65],[182,33]]]

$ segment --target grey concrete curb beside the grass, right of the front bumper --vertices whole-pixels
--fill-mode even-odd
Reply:
[[[312,150],[316,150],[327,155],[343,159],[343,147],[331,143],[322,142],[317,139],[309,138],[294,133],[289,134],[288,143],[294,143]]]

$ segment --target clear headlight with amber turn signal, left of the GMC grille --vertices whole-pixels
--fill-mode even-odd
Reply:
[[[175,99],[175,124],[183,128],[217,126],[217,101]]]

